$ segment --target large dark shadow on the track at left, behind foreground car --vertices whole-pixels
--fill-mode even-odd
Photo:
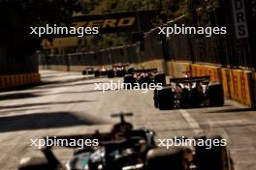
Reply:
[[[80,118],[73,112],[42,112],[0,117],[0,132],[104,124],[107,123],[101,120]]]

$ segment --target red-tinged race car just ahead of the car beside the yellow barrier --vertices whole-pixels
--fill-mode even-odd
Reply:
[[[150,83],[160,83],[162,86],[166,84],[166,74],[163,72],[158,72],[157,69],[149,70],[136,70],[133,74],[127,74],[124,76],[124,83],[132,84],[139,83],[150,84]]]

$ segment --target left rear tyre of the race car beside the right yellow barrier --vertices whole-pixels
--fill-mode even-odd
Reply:
[[[174,108],[175,93],[171,86],[163,87],[157,92],[157,105],[160,110],[168,110]]]

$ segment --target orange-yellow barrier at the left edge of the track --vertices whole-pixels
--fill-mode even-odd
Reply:
[[[0,89],[40,83],[39,73],[0,75]]]

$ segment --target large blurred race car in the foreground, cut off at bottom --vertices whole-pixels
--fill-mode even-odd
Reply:
[[[115,114],[121,122],[109,133],[54,136],[56,139],[98,139],[97,147],[75,149],[74,156],[63,164],[52,152],[42,150],[46,158],[30,157],[20,160],[18,170],[232,170],[233,163],[226,146],[158,147],[155,132],[134,129],[124,120],[132,114]],[[195,138],[196,139],[196,138]],[[220,136],[199,136],[196,140],[221,140]],[[74,147],[75,148],[75,147]]]

